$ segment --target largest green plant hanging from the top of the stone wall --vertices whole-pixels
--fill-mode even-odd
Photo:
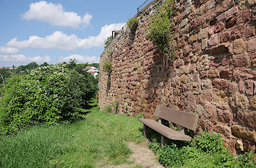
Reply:
[[[174,48],[171,48],[171,39],[174,35],[175,8],[172,0],[166,1],[158,7],[154,16],[147,37],[153,41],[164,58],[174,59]]]

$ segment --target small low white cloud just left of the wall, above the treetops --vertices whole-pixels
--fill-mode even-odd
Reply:
[[[60,62],[69,62],[69,60],[72,59],[72,60],[76,60],[77,63],[99,63],[100,62],[100,58],[97,57],[97,56],[81,56],[81,55],[78,55],[78,54],[74,54],[74,55],[71,55],[71,56],[67,56],[67,57],[60,57],[59,58],[59,61]]]

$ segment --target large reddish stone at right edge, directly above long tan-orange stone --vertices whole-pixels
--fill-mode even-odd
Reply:
[[[244,126],[256,128],[256,112],[238,111],[235,120]]]

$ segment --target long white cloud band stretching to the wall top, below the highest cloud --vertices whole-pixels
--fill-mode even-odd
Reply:
[[[30,36],[28,40],[17,41],[17,37],[9,41],[7,46],[13,48],[54,48],[64,50],[74,50],[77,48],[103,47],[104,40],[111,35],[112,30],[119,30],[125,23],[105,25],[101,27],[101,32],[97,36],[90,36],[85,39],[77,35],[67,35],[56,31],[46,37]]]

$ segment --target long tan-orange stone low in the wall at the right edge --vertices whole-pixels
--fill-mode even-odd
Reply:
[[[250,131],[248,128],[242,127],[241,125],[232,125],[231,130],[232,134],[236,137],[256,142],[255,131]]]

